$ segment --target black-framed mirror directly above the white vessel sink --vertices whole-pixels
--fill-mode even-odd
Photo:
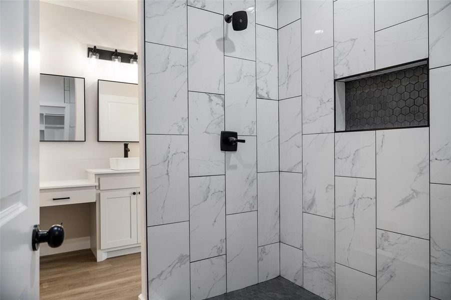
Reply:
[[[98,80],[98,141],[139,141],[138,85]]]

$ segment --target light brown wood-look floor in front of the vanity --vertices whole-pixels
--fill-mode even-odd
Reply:
[[[40,257],[41,300],[137,300],[140,253],[95,261],[91,250]]]

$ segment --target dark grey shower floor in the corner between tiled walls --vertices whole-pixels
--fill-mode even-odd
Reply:
[[[323,300],[291,281],[276,277],[242,289],[227,292],[208,300]]]

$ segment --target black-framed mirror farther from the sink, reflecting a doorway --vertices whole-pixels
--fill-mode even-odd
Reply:
[[[40,74],[39,140],[84,141],[84,78]]]

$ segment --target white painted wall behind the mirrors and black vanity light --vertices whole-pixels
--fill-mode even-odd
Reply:
[[[97,142],[97,79],[137,83],[137,66],[107,60],[89,63],[87,46],[137,50],[136,22],[40,3],[41,73],[85,78],[86,141],[41,142],[40,180],[85,178],[86,168],[109,167],[123,155],[122,143]],[[130,143],[130,156],[139,155]]]

